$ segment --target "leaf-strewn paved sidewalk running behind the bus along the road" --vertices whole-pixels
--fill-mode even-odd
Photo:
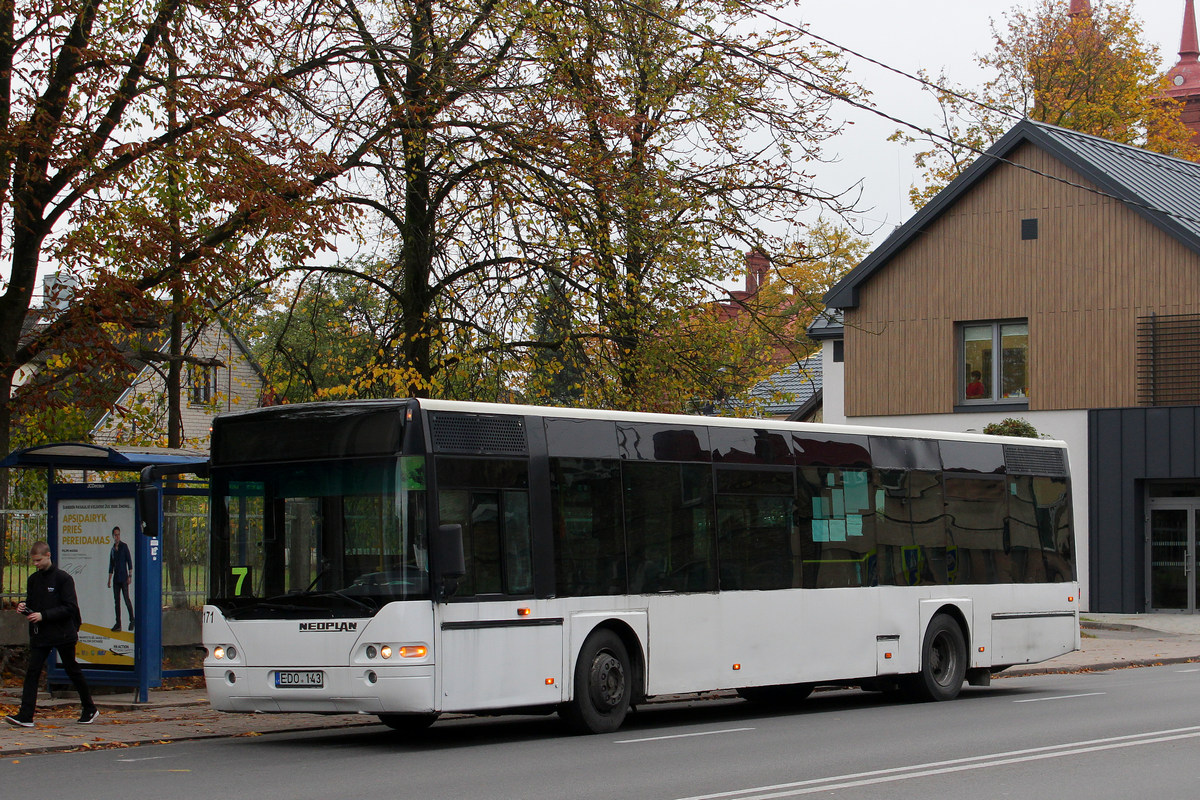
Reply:
[[[1014,667],[1002,675],[1099,672],[1200,661],[1200,615],[1084,614],[1084,637],[1079,652],[1040,664]],[[12,687],[0,691],[4,714],[16,711],[19,693]],[[373,716],[354,714],[223,714],[209,708],[204,690],[152,690],[150,702],[143,704],[133,703],[132,692],[103,694],[96,700],[101,716],[90,726],[76,722],[79,705],[65,699],[40,700],[35,728],[0,723],[0,757],[12,759],[55,751],[378,723]]]

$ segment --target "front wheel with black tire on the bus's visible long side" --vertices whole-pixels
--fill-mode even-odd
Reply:
[[[612,733],[625,721],[634,692],[629,652],[620,637],[595,631],[575,662],[575,697],[559,715],[575,733]]]

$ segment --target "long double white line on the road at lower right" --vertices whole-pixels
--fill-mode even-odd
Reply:
[[[908,766],[895,766],[892,769],[871,770],[868,772],[834,775],[830,777],[812,778],[809,781],[776,783],[773,786],[760,786],[749,789],[719,792],[716,794],[702,794],[691,798],[680,798],[679,800],[726,800],[730,798],[737,798],[738,800],[773,800],[776,798],[793,798],[816,792],[848,789],[860,786],[870,786],[872,783],[889,783],[913,777],[929,777],[932,775],[946,775],[949,772],[984,769],[986,766],[1003,766],[1022,762],[1061,758],[1063,756],[1078,756],[1104,750],[1135,747],[1138,745],[1151,745],[1164,741],[1174,741],[1177,739],[1195,738],[1200,738],[1200,726],[1193,726],[1189,728],[1171,728],[1169,730],[1150,730],[1146,733],[1127,734],[1122,736],[1106,736],[1104,739],[1088,739],[1084,741],[1064,742],[1062,745],[1030,747],[1026,750],[990,753],[986,756],[970,756],[966,758],[955,758],[944,762],[911,764]]]

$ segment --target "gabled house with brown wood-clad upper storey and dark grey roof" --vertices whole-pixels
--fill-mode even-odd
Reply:
[[[824,421],[1070,447],[1085,608],[1196,612],[1200,164],[1033,121],[826,296]]]

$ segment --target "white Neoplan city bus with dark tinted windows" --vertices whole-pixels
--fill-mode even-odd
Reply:
[[[212,427],[224,711],[924,699],[1079,648],[1062,443],[389,399]]]

